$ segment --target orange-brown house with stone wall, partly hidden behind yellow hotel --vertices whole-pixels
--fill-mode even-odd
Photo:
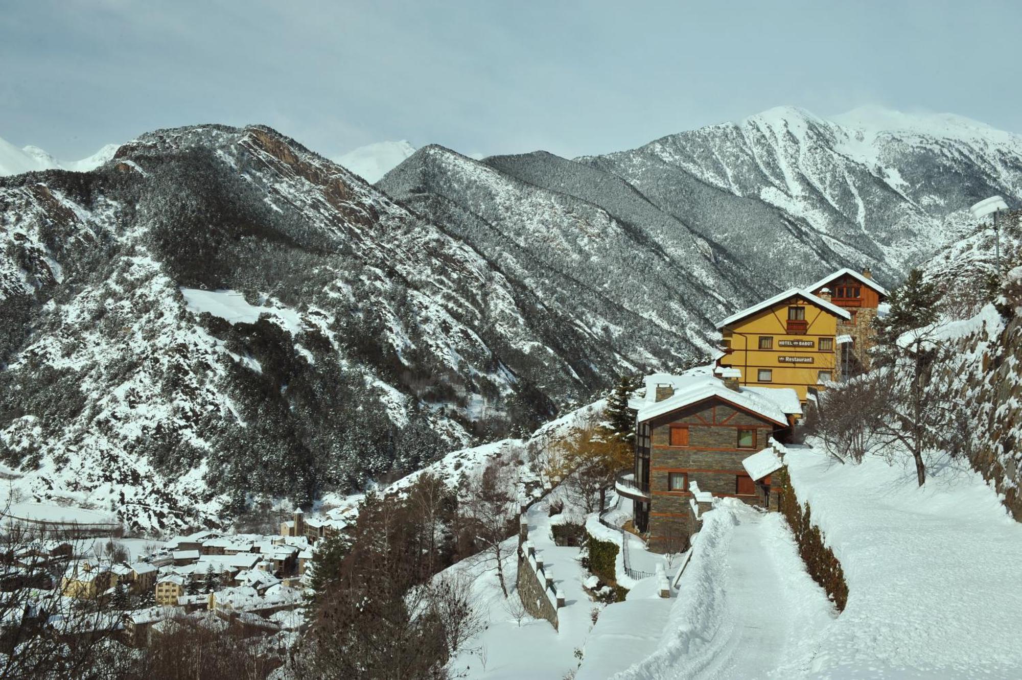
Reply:
[[[873,320],[877,318],[880,304],[887,300],[887,290],[873,280],[870,270],[857,274],[848,269],[838,270],[805,290],[850,315],[837,323],[841,375],[853,376],[869,371],[869,352],[876,339]]]

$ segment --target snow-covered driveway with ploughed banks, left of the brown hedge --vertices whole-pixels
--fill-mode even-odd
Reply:
[[[703,515],[692,550],[666,617],[648,604],[607,609],[578,680],[799,674],[811,632],[832,622],[833,608],[806,573],[784,519],[719,499]],[[654,619],[662,621],[658,629]],[[639,640],[621,634],[630,627]],[[648,655],[636,654],[636,646]]]

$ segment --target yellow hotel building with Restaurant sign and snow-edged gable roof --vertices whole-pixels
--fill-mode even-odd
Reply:
[[[722,367],[741,371],[743,385],[791,387],[805,401],[809,388],[838,379],[838,320],[851,314],[800,288],[743,309],[716,325]]]

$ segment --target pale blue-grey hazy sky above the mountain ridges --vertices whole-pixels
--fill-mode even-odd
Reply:
[[[156,4],[6,3],[0,137],[74,159],[263,123],[328,156],[387,139],[574,156],[783,104],[1022,133],[1022,2]]]

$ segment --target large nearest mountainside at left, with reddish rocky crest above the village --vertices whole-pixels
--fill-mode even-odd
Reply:
[[[415,470],[548,419],[609,353],[265,128],[158,131],[92,173],[7,178],[0,214],[4,460],[24,492],[138,528]]]

